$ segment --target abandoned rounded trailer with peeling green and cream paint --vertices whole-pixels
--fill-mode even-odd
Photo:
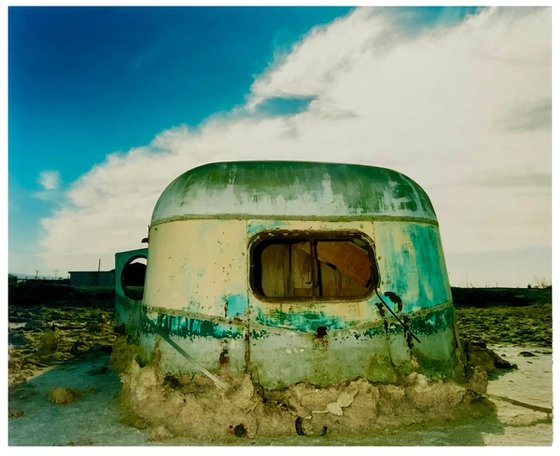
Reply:
[[[464,376],[434,209],[389,169],[192,169],[116,274],[117,320],[164,374],[249,374],[267,389]]]

